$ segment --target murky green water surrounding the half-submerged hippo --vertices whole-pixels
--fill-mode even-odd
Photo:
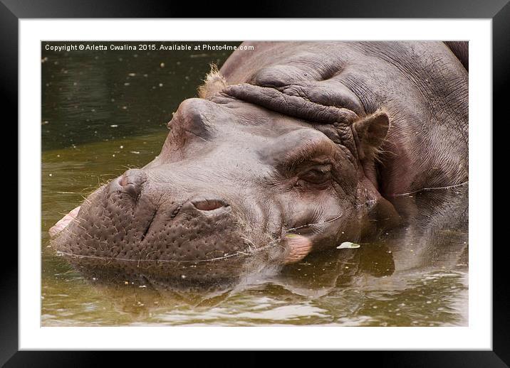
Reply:
[[[49,227],[98,185],[151,161],[179,102],[228,55],[43,50],[42,325],[467,325],[467,232],[453,222],[420,223],[202,293],[105,286],[54,254]]]

